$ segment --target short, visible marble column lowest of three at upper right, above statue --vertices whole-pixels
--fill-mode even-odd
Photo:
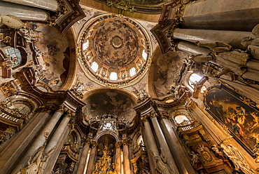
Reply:
[[[211,53],[211,50],[209,48],[205,48],[202,46],[198,47],[197,45],[189,41],[179,41],[177,48],[181,51],[186,51],[193,55],[198,55],[198,54],[208,55],[209,53]]]

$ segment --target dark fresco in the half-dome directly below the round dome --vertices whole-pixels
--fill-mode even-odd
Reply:
[[[85,119],[88,120],[95,116],[103,114],[116,114],[118,119],[125,118],[132,121],[135,116],[134,102],[131,98],[116,92],[98,93],[91,95],[85,101],[86,106],[83,107]]]

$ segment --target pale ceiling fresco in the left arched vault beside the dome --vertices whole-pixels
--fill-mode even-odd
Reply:
[[[69,71],[70,49],[66,36],[48,25],[27,23],[26,27],[35,39],[39,65],[32,65],[39,83],[45,83],[58,91],[66,81]]]

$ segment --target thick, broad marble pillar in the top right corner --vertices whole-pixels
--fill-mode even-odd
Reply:
[[[254,0],[207,0],[186,5],[184,26],[196,29],[251,31],[259,23]]]

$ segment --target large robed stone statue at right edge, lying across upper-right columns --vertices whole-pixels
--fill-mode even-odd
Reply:
[[[197,41],[198,46],[210,48],[211,53],[209,55],[195,55],[193,60],[199,63],[215,62],[221,65],[223,71],[217,77],[228,72],[234,72],[244,79],[259,81],[259,25],[253,28],[252,33],[255,35],[255,39],[245,37],[241,41],[243,46],[248,47],[246,51],[233,49],[229,44],[221,42],[202,44]]]

